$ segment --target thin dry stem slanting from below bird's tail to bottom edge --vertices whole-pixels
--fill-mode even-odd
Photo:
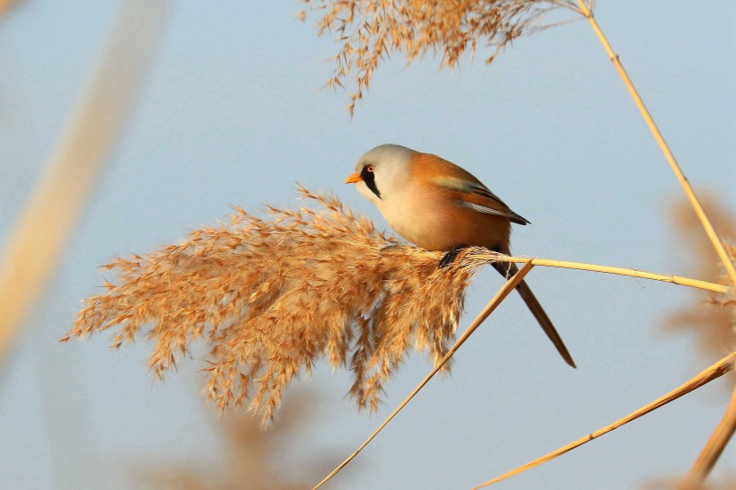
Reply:
[[[499,304],[501,304],[501,302],[504,301],[504,299],[509,295],[509,293],[511,293],[513,291],[513,288],[515,288],[519,283],[521,283],[521,280],[524,278],[524,276],[526,276],[527,274],[529,274],[529,272],[531,270],[531,267],[533,267],[533,265],[530,262],[527,262],[526,264],[524,264],[523,267],[521,267],[521,269],[519,270],[519,272],[517,272],[516,274],[514,274],[511,278],[509,278],[508,281],[506,281],[506,283],[504,283],[504,285],[501,287],[501,289],[498,290],[498,293],[495,293],[495,296],[491,299],[491,301],[488,302],[488,304],[486,304],[486,307],[483,309],[483,311],[481,311],[478,314],[478,317],[473,320],[473,322],[465,330],[465,332],[462,334],[462,336],[460,336],[460,338],[458,338],[457,342],[455,342],[455,344],[451,347],[451,349],[449,351],[447,351],[447,354],[444,354],[444,357],[442,357],[442,360],[434,366],[434,369],[431,372],[429,372],[429,374],[427,374],[425,376],[425,379],[422,380],[416,386],[416,388],[412,390],[411,393],[409,393],[409,395],[407,396],[407,398],[404,398],[404,401],[402,401],[399,404],[399,407],[396,407],[394,409],[394,411],[391,412],[388,417],[386,417],[386,420],[384,420],[383,423],[381,425],[379,425],[378,428],[375,431],[373,431],[373,433],[370,436],[368,436],[368,438],[360,445],[360,447],[358,447],[358,449],[356,449],[350,456],[347,457],[347,459],[345,459],[342,463],[340,463],[337,466],[337,468],[333,469],[332,472],[327,477],[325,477],[322,481],[320,481],[320,483],[318,483],[316,486],[314,486],[314,488],[312,490],[316,490],[320,486],[322,486],[325,483],[327,483],[330,478],[332,478],[335,475],[337,475],[337,473],[342,468],[345,468],[346,465],[350,461],[352,461],[355,458],[355,456],[358,455],[358,453],[360,451],[363,451],[364,450],[365,446],[367,446],[368,443],[370,443],[373,440],[373,438],[376,435],[378,435],[378,433],[380,433],[383,430],[383,428],[386,425],[388,425],[390,423],[390,421],[395,416],[397,416],[399,414],[399,411],[401,411],[402,408],[404,408],[404,407],[407,406],[407,403],[409,401],[411,401],[411,399],[416,396],[416,394],[419,392],[419,390],[420,389],[423,389],[425,387],[426,383],[428,383],[434,377],[434,375],[438,371],[440,371],[440,369],[442,369],[442,366],[445,363],[448,363],[450,361],[450,358],[452,357],[453,354],[455,354],[455,352],[457,352],[457,350],[460,348],[460,346],[462,346],[465,343],[465,341],[468,340],[468,338],[473,334],[473,332],[475,332],[476,329],[478,327],[480,327],[480,324],[483,323],[488,318],[488,316],[496,309],[496,307]]]

